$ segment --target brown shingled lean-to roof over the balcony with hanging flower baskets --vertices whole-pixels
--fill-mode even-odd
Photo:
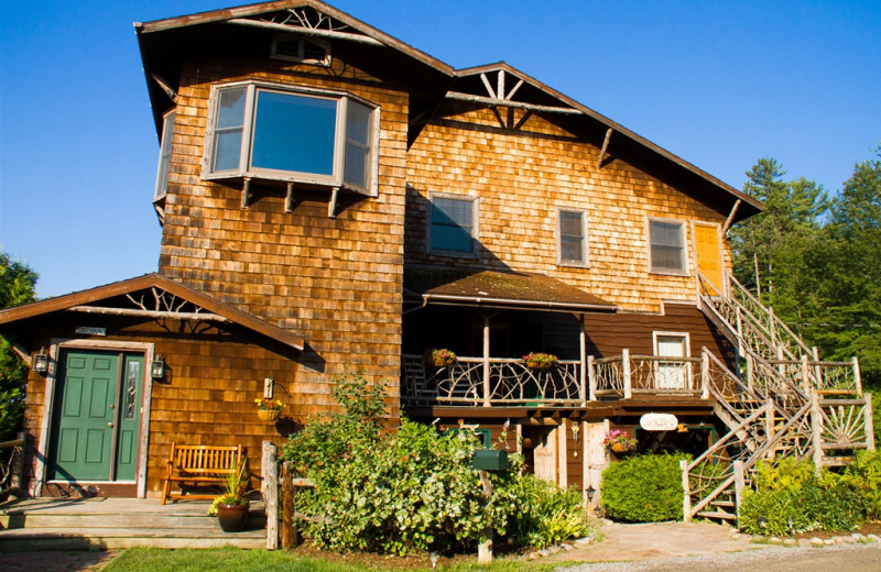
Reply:
[[[407,301],[545,311],[616,311],[614,304],[543,274],[410,265]]]

